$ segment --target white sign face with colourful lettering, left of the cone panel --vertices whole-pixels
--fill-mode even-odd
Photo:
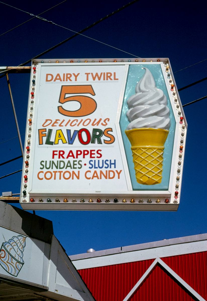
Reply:
[[[41,68],[32,191],[127,190],[114,114],[124,66],[69,70]]]

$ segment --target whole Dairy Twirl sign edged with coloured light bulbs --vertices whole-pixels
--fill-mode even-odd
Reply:
[[[186,121],[168,59],[32,62],[23,209],[177,210]]]

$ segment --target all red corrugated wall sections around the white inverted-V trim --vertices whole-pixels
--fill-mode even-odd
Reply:
[[[129,258],[130,260],[130,258]],[[207,252],[164,257],[162,260],[207,300]],[[154,259],[79,270],[97,301],[122,301]],[[159,265],[130,301],[193,301],[187,291]]]

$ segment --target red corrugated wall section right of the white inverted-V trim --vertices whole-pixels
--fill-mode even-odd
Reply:
[[[162,260],[207,300],[207,252],[170,256]]]

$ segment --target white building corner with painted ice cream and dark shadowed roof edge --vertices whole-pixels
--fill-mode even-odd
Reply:
[[[93,301],[52,222],[0,202],[0,299]]]

